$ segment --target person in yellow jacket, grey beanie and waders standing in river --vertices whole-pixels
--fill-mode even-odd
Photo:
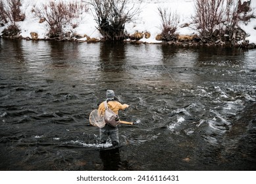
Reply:
[[[117,98],[115,97],[115,92],[113,90],[107,90],[106,93],[107,96],[107,106],[115,112],[115,114],[118,114],[118,110],[124,110],[128,107],[128,104],[121,104],[117,101]],[[99,104],[98,108],[99,112],[101,114],[105,114],[105,105],[104,102]],[[110,126],[109,124],[105,124],[104,127],[100,128],[99,131],[99,137],[101,143],[107,142],[107,137],[111,137],[111,142],[113,147],[116,147],[119,145],[119,137],[118,137],[118,127]]]

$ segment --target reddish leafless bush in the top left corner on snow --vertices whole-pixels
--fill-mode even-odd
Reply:
[[[21,7],[20,0],[1,0],[0,1],[0,20],[5,24],[11,22],[23,21],[25,19],[25,14],[20,11]]]

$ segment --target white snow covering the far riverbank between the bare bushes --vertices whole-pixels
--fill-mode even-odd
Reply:
[[[44,23],[39,24],[39,18],[35,17],[32,13],[32,9],[40,7],[42,3],[47,1],[34,1],[34,0],[22,0],[22,12],[26,14],[26,19],[23,22],[18,22],[20,29],[22,30],[22,37],[31,37],[30,32],[38,33],[39,39],[44,39],[47,35],[47,26]],[[60,1],[60,0],[56,0]],[[63,0],[62,0],[63,1]],[[64,0],[73,1],[73,0]],[[131,5],[140,2],[140,0],[130,0]],[[192,22],[192,16],[194,13],[194,0],[141,0],[140,9],[141,12],[135,17],[134,22],[126,24],[126,32],[128,34],[134,34],[134,32],[149,32],[151,37],[149,39],[141,39],[147,43],[157,43],[155,36],[161,33],[161,18],[158,14],[157,8],[168,7],[172,12],[176,12],[180,17],[180,23],[178,24],[177,34],[180,35],[191,35],[197,34],[197,31],[192,28],[181,28],[180,26],[184,23]],[[251,0],[251,6],[256,9],[256,0]],[[98,30],[95,28],[97,24],[93,20],[93,10],[90,9],[88,12],[84,12],[80,16],[80,24],[78,28],[72,30],[79,35],[88,35],[90,37],[100,38]],[[247,32],[250,36],[247,37],[249,43],[256,43],[256,19],[251,20],[249,24],[240,24],[241,28]],[[0,32],[5,27],[0,28]]]

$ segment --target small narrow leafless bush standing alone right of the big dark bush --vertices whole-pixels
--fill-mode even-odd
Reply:
[[[158,8],[159,16],[161,16],[161,30],[162,37],[165,41],[170,41],[175,39],[174,33],[177,30],[178,23],[180,21],[180,17],[177,13],[173,13],[170,9],[166,8]]]

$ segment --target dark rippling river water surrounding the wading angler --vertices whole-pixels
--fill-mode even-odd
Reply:
[[[256,170],[256,50],[0,41],[0,170]],[[107,89],[119,149],[88,121]]]

